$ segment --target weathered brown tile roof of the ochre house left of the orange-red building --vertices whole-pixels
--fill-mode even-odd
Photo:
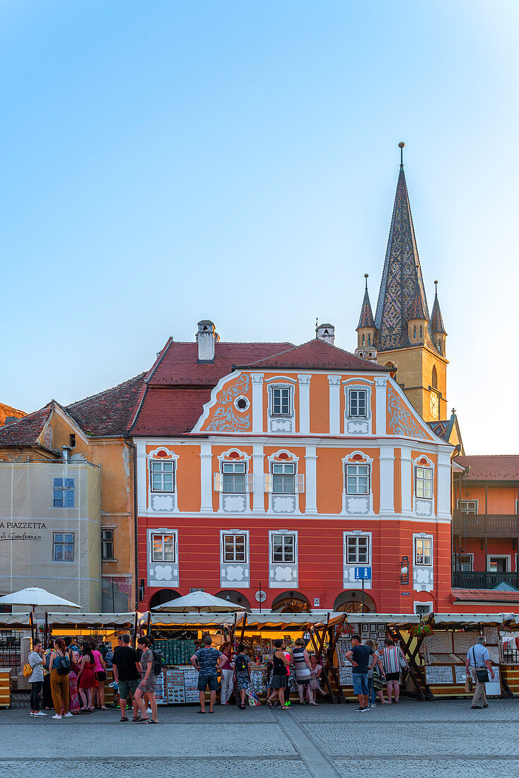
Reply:
[[[65,410],[90,435],[124,435],[135,414],[145,375],[141,373],[116,387],[73,402]]]

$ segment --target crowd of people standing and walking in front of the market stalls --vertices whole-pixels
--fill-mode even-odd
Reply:
[[[84,641],[79,648],[66,637],[54,640],[51,649],[44,651],[40,640],[35,640],[29,654],[32,673],[29,677],[30,715],[47,716],[46,710],[54,707],[53,719],[68,718],[75,714],[92,713],[97,706],[107,710],[104,699],[104,683],[107,668],[112,668],[114,692],[118,692],[121,722],[128,721],[128,710],[132,710],[132,721],[158,724],[155,697],[156,677],[160,674],[162,661],[160,652],[153,650],[153,638],[141,636],[137,640],[138,650],[131,646],[129,635],[117,638],[114,651],[110,643],[101,643],[97,648]],[[359,713],[366,712],[378,702],[380,705],[398,703],[400,698],[400,677],[404,668],[409,668],[402,648],[387,638],[384,649],[378,650],[372,640],[362,643],[358,634],[351,638],[352,648],[346,658],[352,664],[353,693],[357,696]],[[251,657],[243,643],[233,653],[231,643],[223,643],[217,649],[212,647],[212,638],[204,635],[202,647],[191,657],[191,664],[198,671],[198,692],[200,710],[206,713],[205,693],[209,689],[209,713],[214,713],[218,673],[221,678],[220,704],[228,705],[235,692],[240,710],[247,707],[247,695],[251,692]],[[488,650],[480,638],[467,655],[467,671],[475,678],[476,689],[472,707],[483,707],[488,703],[485,696],[485,671],[493,677]],[[290,674],[295,676],[300,705],[317,705],[317,698],[324,696],[321,687],[323,667],[317,655],[308,651],[305,641],[298,638],[291,651],[286,650],[285,640],[274,641],[272,661],[267,663],[267,696],[265,704],[279,706],[286,710],[290,706]],[[488,678],[488,675],[486,676]],[[387,699],[384,699],[384,685]],[[128,699],[129,698],[129,699]]]

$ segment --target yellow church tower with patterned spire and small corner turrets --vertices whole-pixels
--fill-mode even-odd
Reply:
[[[369,334],[376,349],[377,363],[393,367],[396,380],[422,418],[426,422],[436,422],[447,419],[447,333],[437,292],[433,313],[429,316],[405,183],[405,144],[398,145],[400,171],[377,310],[374,321],[373,317],[371,320],[373,327],[361,327],[369,321],[365,315],[366,300],[371,313],[366,286],[357,328],[359,342],[356,353],[361,349],[361,338],[365,338],[366,342]]]

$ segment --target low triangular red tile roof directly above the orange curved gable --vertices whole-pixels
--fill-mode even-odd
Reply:
[[[259,359],[258,362],[235,364],[240,367],[254,368],[254,370],[275,367],[301,370],[381,370],[389,372],[387,367],[367,362],[366,359],[359,359],[358,356],[338,349],[335,345],[329,345],[319,338],[314,338],[314,340],[302,345],[292,346],[274,356]]]

